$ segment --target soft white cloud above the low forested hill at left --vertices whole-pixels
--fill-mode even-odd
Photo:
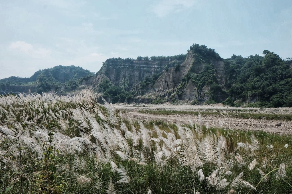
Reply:
[[[45,48],[35,48],[32,44],[25,41],[12,42],[8,49],[16,54],[29,56],[32,58],[46,58],[51,55],[52,51]]]

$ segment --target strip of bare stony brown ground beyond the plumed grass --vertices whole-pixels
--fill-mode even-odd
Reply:
[[[199,117],[193,114],[154,115],[139,113],[138,110],[141,109],[141,107],[114,106],[123,111],[125,117],[130,117],[132,120],[163,120],[164,122],[180,124],[190,124],[190,121],[192,121],[193,123],[199,124]],[[153,105],[148,108],[153,109]],[[143,107],[142,109],[147,109],[147,107]],[[202,124],[209,125],[210,127],[230,127],[235,130],[259,130],[277,134],[292,134],[292,121],[240,119],[227,116],[224,117],[223,115],[202,115],[201,118]],[[282,125],[280,127],[275,126],[277,122],[281,122]]]

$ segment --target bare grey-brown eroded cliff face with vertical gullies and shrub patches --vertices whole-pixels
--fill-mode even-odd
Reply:
[[[205,71],[209,77],[204,77]],[[91,88],[103,92],[98,88],[108,80],[113,86],[126,85],[126,90],[135,94],[132,96],[134,102],[149,102],[151,99],[204,102],[210,99],[212,83],[218,86],[223,83],[224,73],[222,58],[204,58],[191,50],[185,60],[109,59],[97,72]]]

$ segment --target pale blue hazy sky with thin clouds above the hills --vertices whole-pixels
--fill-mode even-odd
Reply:
[[[0,0],[0,79],[112,57],[186,54],[292,57],[291,0]]]

